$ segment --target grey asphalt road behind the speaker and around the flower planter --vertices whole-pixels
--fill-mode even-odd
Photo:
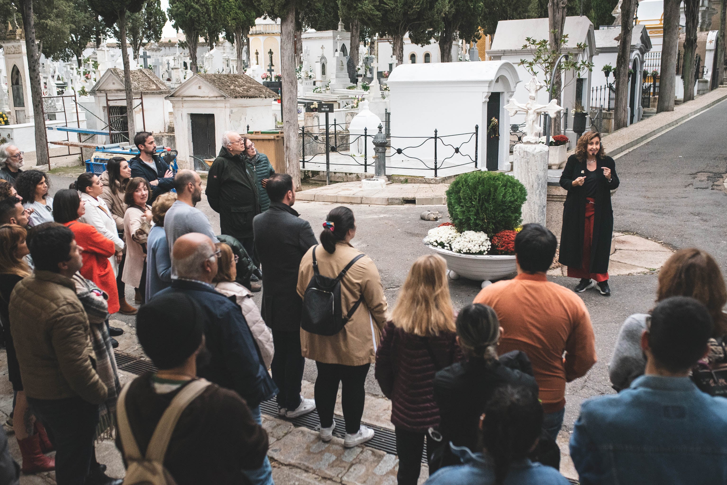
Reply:
[[[727,155],[722,148],[726,118],[727,102],[722,102],[616,160],[621,179],[621,187],[613,199],[616,231],[634,232],[663,241],[672,248],[704,248],[718,258],[723,271],[727,270],[727,238],[723,233],[727,222],[726,194],[721,185],[727,174]],[[51,176],[51,179],[52,192],[68,187],[70,182],[65,176]],[[310,221],[318,234],[326,213],[335,206],[299,202],[294,208]],[[219,216],[209,208],[206,198],[198,208],[218,230]],[[376,262],[391,306],[411,263],[427,253],[422,238],[439,223],[419,219],[425,210],[422,206],[350,205],[350,208],[356,214],[358,226],[353,245]],[[446,213],[444,206],[435,208]],[[549,279],[569,288],[577,283],[566,277]],[[564,428],[571,428],[583,399],[614,392],[606,366],[616,335],[626,317],[653,306],[656,283],[656,274],[616,276],[611,278],[611,297],[603,297],[595,290],[581,295],[593,320],[598,363],[584,378],[567,386]],[[459,309],[473,300],[480,285],[460,279],[450,282],[450,290],[454,306]],[[132,291],[127,288],[130,302]],[[260,293],[255,298],[260,304]],[[116,314],[114,318],[133,324],[133,317]],[[313,362],[307,362],[304,378],[315,380]],[[366,391],[380,394],[373,368],[366,380]]]

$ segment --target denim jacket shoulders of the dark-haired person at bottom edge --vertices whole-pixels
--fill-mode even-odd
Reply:
[[[441,468],[430,476],[425,485],[494,485],[495,465],[489,455],[473,453],[466,447],[451,445],[452,452],[462,465]],[[504,485],[570,485],[555,468],[531,462],[527,458],[510,465]]]

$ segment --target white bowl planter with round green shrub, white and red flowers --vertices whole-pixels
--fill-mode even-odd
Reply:
[[[498,280],[515,272],[514,234],[526,189],[513,176],[474,171],[447,189],[451,223],[427,233],[424,243],[447,261],[449,277]]]

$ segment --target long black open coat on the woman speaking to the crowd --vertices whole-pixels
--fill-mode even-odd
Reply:
[[[611,238],[614,234],[614,210],[611,208],[611,190],[619,187],[616,164],[611,157],[596,158],[598,186],[595,192],[595,215],[593,219],[593,244],[591,245],[591,273],[608,272],[608,258],[611,256]],[[603,175],[601,168],[611,168],[611,182]],[[582,267],[583,236],[585,232],[586,194],[583,185],[573,186],[573,181],[585,176],[586,162],[571,155],[563,168],[561,187],[568,191],[563,203],[563,229],[561,252],[558,262],[574,268]]]

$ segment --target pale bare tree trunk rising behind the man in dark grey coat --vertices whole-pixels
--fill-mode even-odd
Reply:
[[[293,177],[296,189],[300,189],[300,163],[298,162],[298,80],[295,77],[295,3],[281,19],[280,63],[283,75],[283,139],[285,144],[286,172]]]

